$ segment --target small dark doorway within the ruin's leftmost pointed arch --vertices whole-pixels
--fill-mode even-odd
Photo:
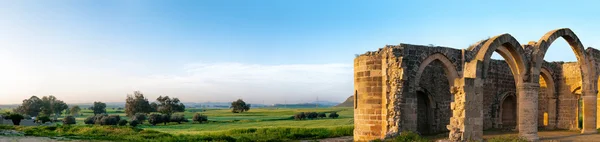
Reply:
[[[427,93],[417,91],[417,131],[424,135],[432,133],[433,110],[431,103]]]

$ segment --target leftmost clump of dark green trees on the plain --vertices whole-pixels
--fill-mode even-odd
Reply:
[[[22,104],[15,108],[13,112],[32,117],[40,115],[53,116],[56,120],[68,108],[69,106],[65,102],[52,95],[43,96],[41,99],[37,96],[31,96],[29,99],[23,100]]]

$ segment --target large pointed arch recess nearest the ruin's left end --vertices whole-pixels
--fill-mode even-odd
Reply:
[[[458,73],[452,62],[443,54],[435,53],[424,59],[414,82],[417,99],[417,130],[421,134],[447,132],[453,96],[450,88]]]

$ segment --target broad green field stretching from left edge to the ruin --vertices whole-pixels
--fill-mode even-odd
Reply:
[[[109,115],[120,115],[129,120],[124,110],[107,109]],[[339,118],[294,120],[299,112],[337,112]],[[73,139],[101,139],[126,141],[188,141],[188,140],[302,140],[351,136],[353,130],[352,108],[253,108],[248,112],[232,113],[229,109],[186,109],[182,112],[190,122],[152,126],[148,122],[129,126],[92,126],[83,120],[92,116],[91,110],[82,110],[73,126],[6,127],[25,132],[26,135],[67,137]],[[191,122],[195,113],[208,116],[208,123]],[[58,123],[58,125],[61,125]],[[149,135],[149,136],[146,136]]]

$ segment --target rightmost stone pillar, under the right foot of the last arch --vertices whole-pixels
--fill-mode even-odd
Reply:
[[[583,96],[583,130],[584,134],[596,134],[596,104],[597,96],[595,90],[584,92]]]

